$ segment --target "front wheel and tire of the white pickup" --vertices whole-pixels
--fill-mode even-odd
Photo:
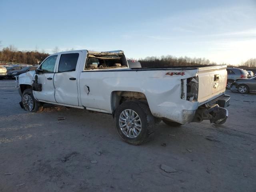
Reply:
[[[43,109],[41,102],[35,100],[32,89],[26,89],[22,93],[21,104],[24,110],[29,112],[40,112]]]

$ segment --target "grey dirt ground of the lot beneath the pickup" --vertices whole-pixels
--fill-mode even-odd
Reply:
[[[132,146],[119,138],[111,115],[57,106],[26,112],[14,86],[0,81],[1,192],[256,191],[255,94],[228,90],[222,126],[161,122],[154,140]]]

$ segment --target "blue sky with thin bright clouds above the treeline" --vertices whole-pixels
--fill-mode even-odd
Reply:
[[[124,50],[128,58],[256,58],[256,0],[0,0],[1,47]]]

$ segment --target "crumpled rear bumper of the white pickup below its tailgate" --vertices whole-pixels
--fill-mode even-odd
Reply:
[[[214,124],[223,124],[228,118],[228,110],[230,96],[223,95],[216,98],[198,108],[195,112],[192,122],[201,122],[202,120],[210,120]]]

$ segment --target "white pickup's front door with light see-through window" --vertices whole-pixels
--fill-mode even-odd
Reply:
[[[38,76],[38,83],[42,84],[42,91],[33,91],[34,97],[38,100],[56,102],[53,77],[57,57],[58,55],[48,57],[39,67],[39,69],[43,70],[43,73],[36,75]]]

